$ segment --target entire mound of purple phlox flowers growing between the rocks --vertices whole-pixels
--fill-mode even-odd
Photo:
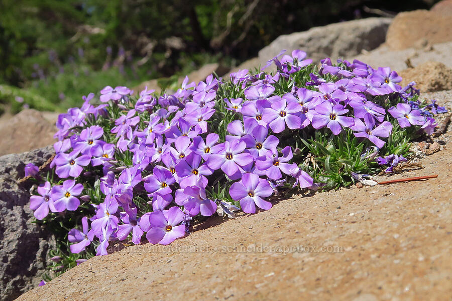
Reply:
[[[200,217],[235,216],[239,205],[246,213],[268,210],[273,194],[322,187],[333,160],[348,167],[337,174],[352,179],[359,164],[371,168],[378,152],[398,146],[388,142],[395,127],[407,135],[407,128],[433,130],[426,108],[409,103],[415,89],[402,89],[389,68],[325,59],[317,69],[302,51],[282,55],[269,61],[277,66],[272,74],[242,70],[197,84],[185,78],[180,89],[160,95],[108,86],[97,106],[94,94],[84,97],[81,108],[58,118],[52,168],[61,180],[48,173],[38,187],[30,203],[35,217],[78,209],[90,215],[79,216],[82,230],[69,231],[73,253],[95,247],[103,255],[110,242],[139,244],[144,237],[169,244]],[[336,146],[313,141],[315,135],[358,141],[348,147],[357,159],[333,155]],[[307,141],[328,158],[300,148]]]

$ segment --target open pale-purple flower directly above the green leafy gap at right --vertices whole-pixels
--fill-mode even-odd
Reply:
[[[338,135],[342,131],[341,125],[350,127],[355,124],[353,117],[341,116],[348,111],[341,104],[333,106],[329,101],[324,101],[315,107],[316,114],[312,117],[312,126],[316,129],[326,126],[333,134]]]

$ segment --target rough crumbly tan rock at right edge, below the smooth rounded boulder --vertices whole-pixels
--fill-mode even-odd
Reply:
[[[403,78],[402,86],[415,81],[416,88],[425,92],[452,89],[452,69],[443,63],[428,61],[415,68],[405,69],[399,75]]]

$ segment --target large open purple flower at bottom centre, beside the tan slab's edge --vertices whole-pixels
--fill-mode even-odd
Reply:
[[[229,189],[229,194],[234,200],[240,200],[242,210],[247,213],[255,213],[256,205],[264,210],[272,207],[270,202],[262,199],[269,197],[273,189],[267,180],[259,179],[256,174],[245,174],[240,182],[234,183]]]

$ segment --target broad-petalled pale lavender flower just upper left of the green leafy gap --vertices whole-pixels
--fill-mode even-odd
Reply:
[[[275,133],[280,133],[286,128],[286,124],[290,129],[300,128],[301,118],[297,116],[300,111],[301,107],[298,103],[281,99],[264,109],[262,119],[269,123]]]

